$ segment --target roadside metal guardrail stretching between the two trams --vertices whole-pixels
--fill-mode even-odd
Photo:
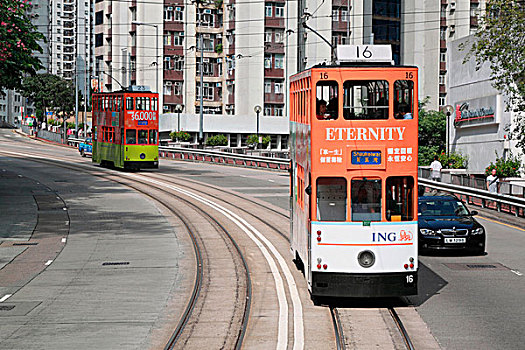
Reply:
[[[253,155],[248,156],[244,154],[193,148],[160,146],[159,156],[163,158],[212,162],[218,164],[237,165],[249,168],[263,168],[273,170],[288,170],[290,168],[289,159],[259,157]]]

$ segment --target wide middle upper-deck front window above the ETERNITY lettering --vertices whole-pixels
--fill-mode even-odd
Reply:
[[[388,81],[347,80],[343,93],[345,119],[388,119]]]

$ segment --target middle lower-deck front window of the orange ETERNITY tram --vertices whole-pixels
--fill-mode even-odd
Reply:
[[[354,179],[352,221],[381,221],[381,179]]]

